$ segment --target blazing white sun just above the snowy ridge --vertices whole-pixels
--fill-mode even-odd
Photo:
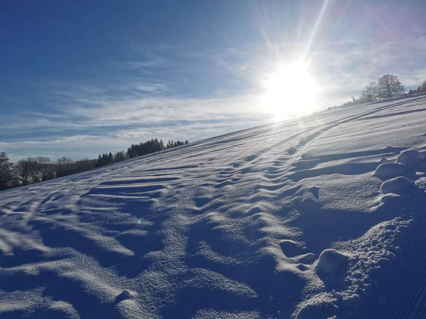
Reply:
[[[263,83],[262,108],[275,120],[310,114],[316,108],[317,86],[308,64],[296,61],[280,65]]]

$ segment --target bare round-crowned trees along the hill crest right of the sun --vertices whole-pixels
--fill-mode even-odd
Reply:
[[[352,97],[351,101],[348,101],[341,105],[329,106],[324,110],[315,111],[314,114],[350,105],[376,102],[379,100],[389,99],[391,97],[426,92],[426,81],[423,81],[423,84],[421,86],[419,85],[417,90],[410,90],[408,93],[405,93],[405,91],[406,90],[404,88],[404,85],[401,84],[397,76],[386,74],[383,75],[383,77],[380,77],[378,82],[373,81],[364,86],[358,98]]]

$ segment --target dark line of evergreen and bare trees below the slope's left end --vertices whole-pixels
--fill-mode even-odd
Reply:
[[[74,160],[67,157],[58,158],[57,161],[51,161],[49,157],[27,157],[20,159],[17,163],[10,163],[9,157],[5,152],[0,153],[0,191],[8,188],[14,188],[21,185],[29,185],[37,182],[46,181],[70,174],[88,171],[93,168],[109,165],[125,159],[138,157],[145,154],[159,152],[167,148],[172,148],[184,144],[185,142],[169,140],[166,145],[162,140],[151,139],[139,144],[132,144],[127,152],[121,151],[115,154],[107,152],[99,154],[98,159],[80,159]]]

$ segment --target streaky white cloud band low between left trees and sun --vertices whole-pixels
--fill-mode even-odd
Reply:
[[[141,83],[115,89],[71,85],[52,90],[49,111],[3,117],[0,134],[18,130],[0,144],[12,160],[28,155],[96,157],[104,151],[121,151],[131,143],[153,137],[164,140],[198,140],[268,123],[251,96],[188,98],[169,96],[162,85]],[[146,85],[146,84],[144,84]],[[128,91],[158,91],[155,96]],[[162,92],[161,92],[162,91]]]

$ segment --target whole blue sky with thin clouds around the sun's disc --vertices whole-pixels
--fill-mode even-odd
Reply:
[[[262,83],[301,57],[315,108],[383,74],[417,88],[425,16],[423,1],[3,2],[0,151],[95,158],[270,123]]]

